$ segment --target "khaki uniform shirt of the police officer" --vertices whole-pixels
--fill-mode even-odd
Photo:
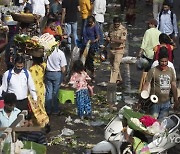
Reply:
[[[120,24],[119,29],[115,30],[114,25],[111,25],[109,29],[109,37],[110,39],[125,40],[124,43],[110,43],[110,48],[117,50],[119,50],[118,48],[124,48],[127,37],[127,29],[122,24]]]

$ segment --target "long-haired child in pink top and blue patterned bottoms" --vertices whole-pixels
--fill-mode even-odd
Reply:
[[[78,116],[83,119],[85,116],[91,117],[91,100],[89,96],[89,89],[92,87],[88,85],[91,80],[89,75],[84,71],[83,63],[80,60],[74,62],[72,68],[73,74],[69,84],[76,89],[76,104]]]

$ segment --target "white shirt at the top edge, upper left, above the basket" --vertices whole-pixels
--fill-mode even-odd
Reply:
[[[45,16],[45,5],[49,4],[49,0],[30,0],[33,8],[33,14]]]

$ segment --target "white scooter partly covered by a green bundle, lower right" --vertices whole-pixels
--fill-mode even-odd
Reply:
[[[126,106],[125,106],[126,107]],[[120,146],[124,139],[123,130],[123,115],[122,110],[107,124],[105,127],[105,140],[96,144],[92,150],[92,154],[121,154]],[[166,126],[166,133],[155,134],[148,141],[150,153],[162,153],[171,147],[175,146],[180,139],[178,127],[180,118],[177,115],[170,115],[164,118],[163,122]],[[130,135],[133,130],[127,127],[127,133]]]

